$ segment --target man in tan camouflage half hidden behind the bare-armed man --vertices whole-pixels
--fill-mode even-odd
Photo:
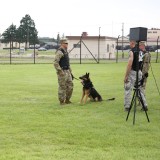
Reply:
[[[141,70],[142,70],[142,77],[143,77],[142,88],[145,94],[146,83],[147,83],[147,78],[148,78],[148,71],[149,71],[150,61],[151,61],[151,54],[146,51],[145,44],[143,42],[139,43],[139,49],[140,49],[140,52],[143,53],[143,63],[141,66]]]

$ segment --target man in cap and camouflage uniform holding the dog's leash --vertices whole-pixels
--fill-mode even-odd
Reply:
[[[60,43],[60,48],[58,48],[55,53],[54,67],[58,77],[58,98],[60,105],[65,105],[71,103],[70,98],[73,92],[73,82],[67,52],[68,41],[66,39],[62,39],[60,40]]]

